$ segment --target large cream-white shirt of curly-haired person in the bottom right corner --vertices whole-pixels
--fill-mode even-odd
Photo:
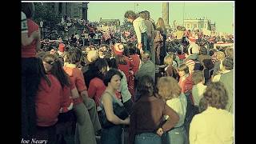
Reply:
[[[226,110],[208,106],[194,115],[190,123],[190,144],[232,144],[234,115]]]

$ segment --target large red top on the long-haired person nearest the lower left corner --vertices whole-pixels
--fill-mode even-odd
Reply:
[[[58,121],[59,110],[63,102],[60,82],[52,74],[47,74],[47,77],[51,86],[48,86],[46,80],[42,78],[35,98],[38,126],[53,126]]]

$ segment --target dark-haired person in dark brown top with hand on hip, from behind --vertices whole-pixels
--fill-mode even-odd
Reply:
[[[130,114],[130,144],[161,144],[164,132],[174,127],[178,114],[157,98],[154,80],[149,75],[142,76],[138,81],[138,93],[141,94]],[[168,115],[166,122],[163,116]]]

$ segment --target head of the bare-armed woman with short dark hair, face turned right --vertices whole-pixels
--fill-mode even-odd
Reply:
[[[120,73],[120,71],[116,69],[110,69],[106,72],[103,78],[103,82],[105,86],[110,87],[113,90],[118,90],[121,86],[121,79],[122,74]]]

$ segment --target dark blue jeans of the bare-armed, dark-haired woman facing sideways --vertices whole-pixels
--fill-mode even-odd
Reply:
[[[101,144],[122,144],[122,126],[102,129]]]

